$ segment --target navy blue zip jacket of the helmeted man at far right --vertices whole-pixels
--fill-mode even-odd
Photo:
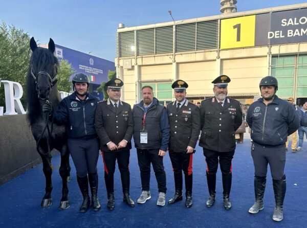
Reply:
[[[261,145],[286,143],[287,136],[299,127],[298,115],[293,106],[276,95],[268,106],[262,98],[252,103],[246,121],[251,128],[251,139]]]

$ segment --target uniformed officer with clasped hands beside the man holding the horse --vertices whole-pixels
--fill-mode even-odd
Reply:
[[[105,83],[109,98],[97,104],[95,114],[95,127],[102,151],[104,180],[108,198],[107,208],[109,210],[115,208],[114,172],[116,160],[121,175],[123,201],[129,207],[135,206],[129,195],[129,157],[134,124],[130,105],[120,100],[120,89],[123,84],[119,78]]]

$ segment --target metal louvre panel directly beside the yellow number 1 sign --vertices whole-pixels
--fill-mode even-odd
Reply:
[[[196,50],[217,48],[217,20],[197,23]]]

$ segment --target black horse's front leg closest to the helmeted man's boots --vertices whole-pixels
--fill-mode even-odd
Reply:
[[[63,146],[63,148],[65,147],[66,146]],[[60,176],[62,177],[62,198],[61,198],[59,209],[68,209],[70,207],[69,198],[68,198],[69,191],[68,191],[68,186],[67,186],[67,178],[70,175],[68,164],[69,164],[69,153],[67,149],[63,149],[61,151],[61,166],[59,169]]]

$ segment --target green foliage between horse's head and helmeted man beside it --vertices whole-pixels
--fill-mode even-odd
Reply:
[[[72,83],[69,81],[69,78],[74,73],[75,70],[67,60],[62,60],[60,62],[60,67],[58,69],[59,80],[57,82],[57,88],[59,91],[70,92]]]

